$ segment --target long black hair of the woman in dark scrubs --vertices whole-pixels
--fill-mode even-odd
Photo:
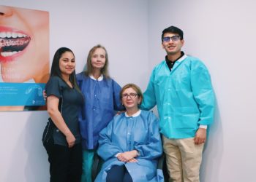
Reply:
[[[74,55],[74,52],[72,52],[72,50],[70,50],[67,47],[59,48],[59,50],[57,50],[53,56],[53,63],[50,68],[50,76],[59,76],[62,79],[61,70],[59,68],[59,60],[65,52],[71,52]],[[74,57],[75,57],[75,55],[74,55]],[[75,87],[75,89],[80,92],[80,89],[78,87],[78,83],[77,83],[77,80],[75,77],[75,70],[72,72],[72,74],[70,74],[69,81],[72,83],[72,85]]]

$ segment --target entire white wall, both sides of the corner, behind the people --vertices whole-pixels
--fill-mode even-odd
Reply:
[[[50,58],[74,50],[81,71],[89,49],[107,47],[110,73],[121,85],[144,90],[151,69],[165,56],[163,28],[184,30],[187,54],[202,59],[217,95],[216,121],[203,157],[203,182],[255,181],[255,1],[1,0],[2,5],[50,12]],[[45,111],[0,113],[0,181],[48,181],[42,147]]]

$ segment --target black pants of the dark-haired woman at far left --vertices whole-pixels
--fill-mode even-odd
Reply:
[[[55,145],[53,138],[44,143],[50,162],[50,182],[80,182],[82,174],[82,147]]]

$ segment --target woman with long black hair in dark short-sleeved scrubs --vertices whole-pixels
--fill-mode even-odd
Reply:
[[[75,55],[61,47],[45,86],[49,122],[42,137],[50,162],[50,182],[80,182],[82,149],[78,112],[83,105],[75,78]]]

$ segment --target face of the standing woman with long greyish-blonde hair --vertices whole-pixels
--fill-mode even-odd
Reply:
[[[101,70],[105,66],[106,52],[102,48],[97,48],[91,55],[91,66],[93,69]]]

